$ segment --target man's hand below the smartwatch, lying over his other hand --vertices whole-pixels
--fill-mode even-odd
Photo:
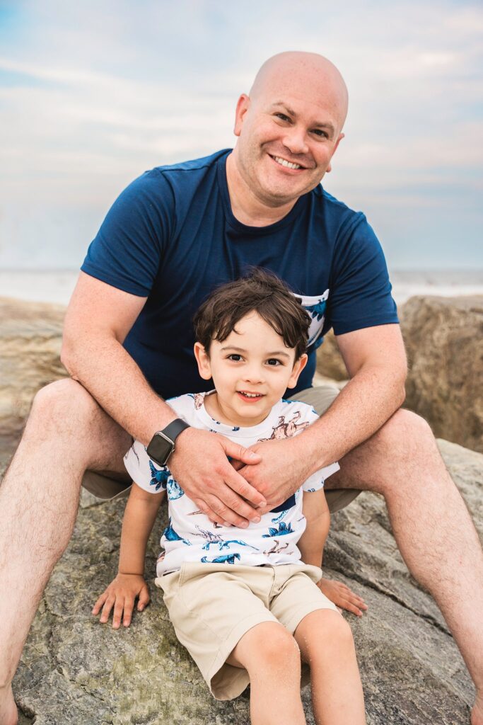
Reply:
[[[177,437],[168,465],[183,491],[211,521],[246,528],[250,521],[260,521],[259,507],[266,500],[235,471],[228,457],[248,469],[261,460],[256,452],[222,435],[187,428]]]

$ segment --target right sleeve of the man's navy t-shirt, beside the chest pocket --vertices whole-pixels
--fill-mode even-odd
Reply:
[[[329,320],[336,335],[398,323],[382,247],[358,213],[340,233],[332,265]]]

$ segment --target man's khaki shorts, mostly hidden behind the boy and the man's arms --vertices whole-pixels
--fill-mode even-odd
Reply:
[[[316,388],[307,388],[293,396],[293,399],[301,400],[312,405],[316,413],[322,415],[332,405],[339,394],[337,388],[331,385],[321,385]],[[105,476],[96,471],[85,471],[83,486],[91,494],[103,500],[114,500],[129,494],[130,482],[119,481]],[[325,497],[331,513],[345,508],[361,492],[358,489],[326,489]]]

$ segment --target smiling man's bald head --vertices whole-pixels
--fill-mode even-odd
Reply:
[[[321,55],[290,51],[262,65],[238,100],[233,156],[263,204],[295,203],[330,171],[347,107],[344,80]]]

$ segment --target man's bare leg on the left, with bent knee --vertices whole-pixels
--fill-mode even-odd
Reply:
[[[122,456],[130,441],[75,381],[58,381],[35,396],[0,486],[1,725],[17,722],[12,677],[43,589],[70,540],[83,472],[125,475]]]

